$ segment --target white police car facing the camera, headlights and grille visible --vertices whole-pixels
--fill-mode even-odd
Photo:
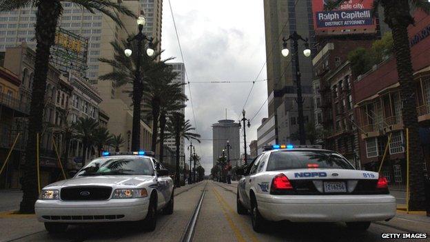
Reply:
[[[72,223],[142,221],[154,230],[156,212],[172,214],[173,181],[153,152],[103,152],[72,179],[47,185],[35,204],[48,232]]]

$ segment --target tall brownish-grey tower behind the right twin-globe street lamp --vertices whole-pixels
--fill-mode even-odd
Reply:
[[[279,0],[264,1],[265,12],[265,38],[267,62],[267,95],[269,99],[268,121],[260,126],[263,130],[275,130],[278,142],[289,142],[289,136],[298,130],[297,104],[296,104],[296,63],[283,57],[280,50],[283,48],[283,37],[288,38],[296,31],[303,38],[309,38],[309,46],[315,53],[315,34],[312,19],[311,0]],[[291,50],[291,40],[287,42]],[[303,42],[299,41],[298,58],[300,63],[302,92],[305,98],[305,121],[313,119],[311,101],[312,62],[305,57]],[[292,50],[291,50],[292,52]],[[295,121],[295,122],[294,122]],[[272,125],[268,127],[267,125]],[[266,127],[267,126],[267,127]],[[274,126],[274,127],[273,127]],[[267,139],[267,141],[272,140]],[[265,145],[266,141],[258,141],[258,147]]]

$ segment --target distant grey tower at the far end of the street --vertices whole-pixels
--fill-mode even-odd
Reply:
[[[218,157],[227,156],[227,141],[230,143],[230,162],[232,167],[236,166],[240,160],[240,124],[231,119],[218,120],[218,123],[212,124],[212,139],[213,139],[213,165],[216,165]]]

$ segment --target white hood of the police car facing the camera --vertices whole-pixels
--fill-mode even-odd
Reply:
[[[52,183],[45,188],[50,187],[68,187],[81,185],[107,185],[107,186],[137,186],[141,183],[151,181],[152,176],[91,176],[91,177],[76,177],[68,180]]]

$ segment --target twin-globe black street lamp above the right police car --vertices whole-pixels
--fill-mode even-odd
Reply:
[[[287,48],[287,41],[291,39],[293,41],[293,54],[294,54],[294,62],[296,63],[296,89],[297,89],[297,111],[298,111],[298,132],[300,136],[300,145],[306,144],[306,134],[305,134],[305,122],[303,121],[303,98],[302,98],[302,84],[300,82],[300,65],[298,63],[298,40],[305,42],[305,50],[303,50],[303,54],[305,57],[309,57],[311,55],[311,50],[309,49],[309,43],[307,43],[307,38],[303,39],[300,35],[297,34],[296,31],[291,34],[288,39],[283,38],[283,50],[281,53],[284,57],[287,57],[289,54],[289,50]]]

